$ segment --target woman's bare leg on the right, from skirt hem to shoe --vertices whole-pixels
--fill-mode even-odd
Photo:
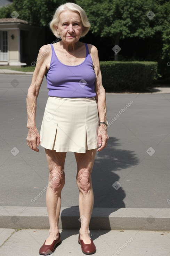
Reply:
[[[74,153],[77,162],[76,183],[79,188],[79,210],[81,218],[80,239],[90,243],[89,223],[94,204],[91,184],[91,172],[94,165],[96,149],[86,150],[86,153]]]

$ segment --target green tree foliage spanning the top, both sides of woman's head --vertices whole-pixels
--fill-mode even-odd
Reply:
[[[72,1],[72,0],[71,0]],[[55,9],[66,0],[13,0],[0,8],[0,18],[10,18],[16,10],[20,19],[30,25],[46,27]],[[161,36],[162,58],[170,58],[169,0],[75,0],[91,22],[91,32],[102,38],[110,37],[113,44],[120,39],[154,38]],[[146,14],[155,16],[149,19]]]

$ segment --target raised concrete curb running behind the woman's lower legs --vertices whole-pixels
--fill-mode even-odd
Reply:
[[[81,221],[86,221],[82,216]],[[0,228],[49,229],[46,207],[0,206]],[[78,207],[61,208],[59,229],[79,229]],[[170,209],[94,208],[90,229],[170,231]]]

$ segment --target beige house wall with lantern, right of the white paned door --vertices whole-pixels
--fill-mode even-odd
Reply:
[[[9,65],[20,65],[21,62],[31,65],[35,62],[40,47],[44,45],[44,29],[20,23],[0,23],[2,28],[8,31]]]

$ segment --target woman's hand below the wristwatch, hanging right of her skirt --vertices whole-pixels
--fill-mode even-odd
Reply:
[[[100,125],[98,129],[99,148],[97,149],[97,151],[101,151],[102,149],[106,148],[108,138],[109,137],[107,134],[107,126],[105,124]]]

